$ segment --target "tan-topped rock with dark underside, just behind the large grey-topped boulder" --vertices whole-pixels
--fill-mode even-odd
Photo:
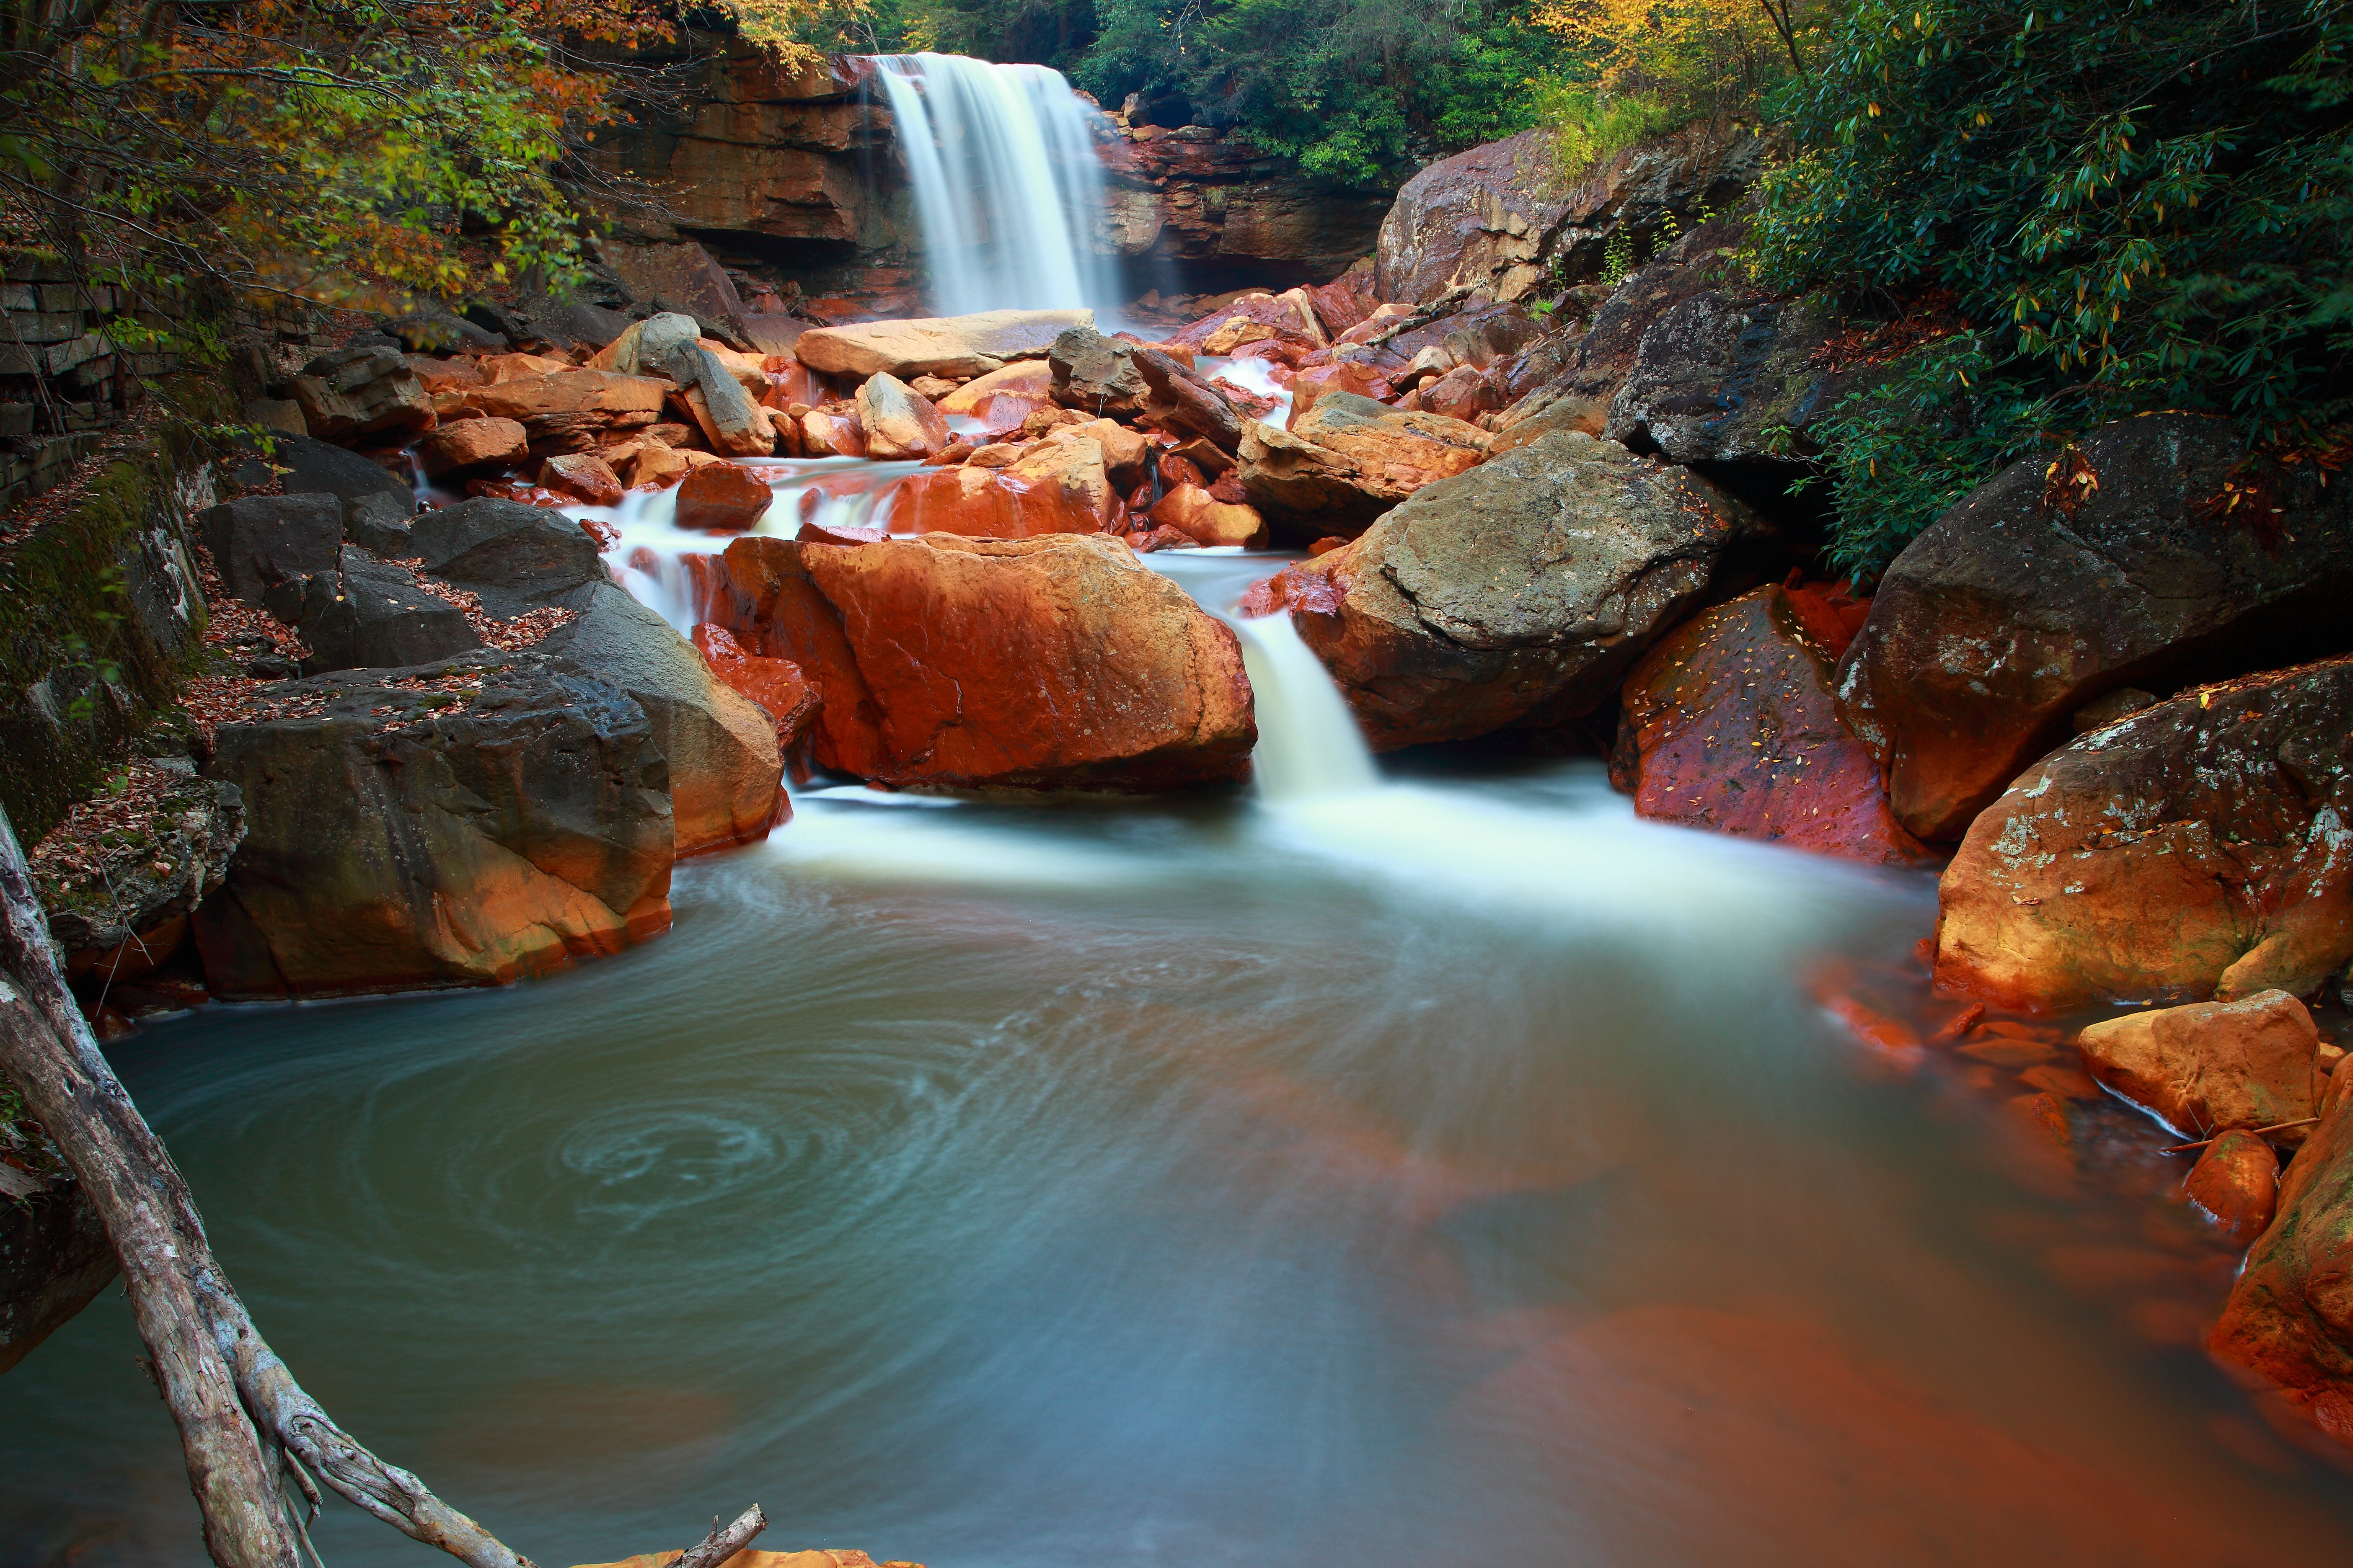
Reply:
[[[1240,442],[1242,491],[1299,538],[1358,531],[1485,456],[1478,425],[1355,393],[1325,393],[1289,430],[1252,423]]]

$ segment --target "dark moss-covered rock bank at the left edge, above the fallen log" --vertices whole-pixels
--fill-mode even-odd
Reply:
[[[233,418],[233,402],[216,376],[176,371],[162,404],[172,416],[153,437],[0,548],[0,806],[26,844],[89,795],[134,736],[176,712],[205,654],[200,597],[188,632],[160,642],[139,616],[134,578],[153,576],[146,534],[191,543],[176,491],[214,456],[205,428]],[[45,503],[56,505],[28,505]]]

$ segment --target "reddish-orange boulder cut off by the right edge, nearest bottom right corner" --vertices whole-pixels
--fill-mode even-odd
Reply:
[[[2353,1095],[2341,1095],[2280,1180],[2278,1218],[2247,1253],[2207,1340],[2353,1441]]]

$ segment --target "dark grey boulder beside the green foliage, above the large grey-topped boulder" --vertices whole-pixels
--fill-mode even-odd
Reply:
[[[1675,463],[1791,461],[1777,430],[1805,430],[1859,376],[1814,364],[1845,317],[1817,294],[1793,301],[1706,289],[1666,310],[1609,404],[1609,440]]]

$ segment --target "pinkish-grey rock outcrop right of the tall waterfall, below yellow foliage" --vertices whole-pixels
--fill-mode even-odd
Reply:
[[[1379,296],[1504,301],[1534,294],[1546,275],[1591,277],[1621,226],[1647,242],[1666,214],[1694,226],[1704,209],[1732,207],[1765,153],[1744,127],[1692,127],[1614,153],[1574,181],[1555,172],[1544,132],[1442,158],[1405,181],[1381,221]]]

